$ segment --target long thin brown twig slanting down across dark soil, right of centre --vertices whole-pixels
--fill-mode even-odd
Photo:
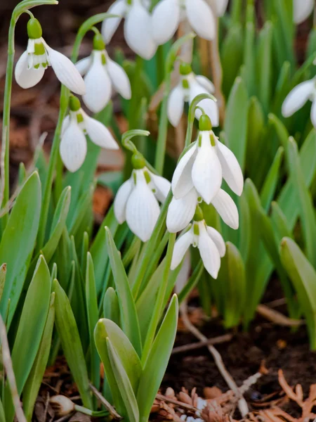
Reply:
[[[205,335],[203,335],[190,321],[189,317],[187,316],[187,303],[183,302],[180,306],[180,314],[183,319],[183,324],[187,327],[187,329],[195,335],[200,341],[206,341],[208,340]],[[218,371],[220,371],[221,375],[223,376],[224,380],[226,381],[228,387],[230,390],[232,390],[235,395],[239,398],[238,400],[238,408],[240,413],[242,414],[242,417],[246,416],[246,414],[249,413],[248,404],[246,403],[246,400],[242,396],[241,392],[239,391],[239,388],[237,387],[237,384],[235,383],[234,379],[228,372],[228,370],[225,367],[225,364],[223,362],[222,357],[220,356],[220,353],[216,350],[215,347],[212,345],[207,346],[209,349],[209,352],[213,356],[213,359],[216,363],[216,366],[218,367]]]

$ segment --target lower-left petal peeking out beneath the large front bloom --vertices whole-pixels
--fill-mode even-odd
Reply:
[[[197,207],[197,191],[192,188],[183,198],[172,198],[166,217],[166,226],[170,233],[177,233],[190,224]]]

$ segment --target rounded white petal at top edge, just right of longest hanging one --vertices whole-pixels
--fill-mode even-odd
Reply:
[[[176,0],[159,1],[152,11],[152,36],[158,45],[175,34],[180,22],[180,6]]]

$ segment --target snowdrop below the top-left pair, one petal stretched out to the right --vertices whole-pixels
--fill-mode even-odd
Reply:
[[[86,135],[96,145],[116,150],[119,149],[109,129],[98,120],[89,117],[81,108],[77,97],[70,97],[70,114],[62,124],[60,157],[70,172],[76,172],[86,158]]]

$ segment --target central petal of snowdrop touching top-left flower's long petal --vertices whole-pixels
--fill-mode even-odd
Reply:
[[[95,51],[93,64],[84,77],[86,94],[82,96],[84,103],[93,113],[99,113],[110,101],[112,85],[105,66],[101,62],[100,51]]]

